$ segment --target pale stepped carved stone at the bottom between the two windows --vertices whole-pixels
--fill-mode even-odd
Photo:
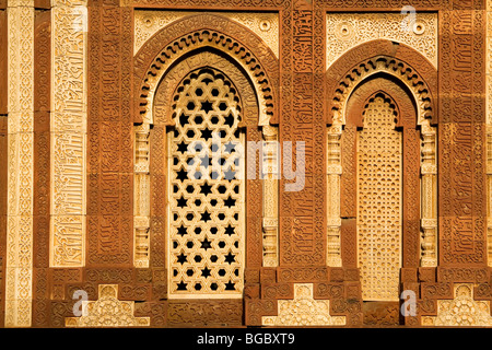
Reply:
[[[313,283],[295,283],[294,300],[279,300],[278,316],[262,316],[263,326],[344,326],[345,316],[330,315],[329,300],[313,298]]]

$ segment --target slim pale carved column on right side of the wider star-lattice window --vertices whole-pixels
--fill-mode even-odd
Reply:
[[[279,265],[279,155],[278,130],[265,126],[263,164],[263,266]]]

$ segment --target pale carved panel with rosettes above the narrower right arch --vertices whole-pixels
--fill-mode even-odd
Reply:
[[[414,48],[437,68],[437,13],[419,13],[413,24],[408,20],[399,13],[328,13],[327,67],[356,45],[388,39]]]

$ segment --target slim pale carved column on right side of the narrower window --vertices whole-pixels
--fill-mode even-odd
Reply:
[[[421,266],[437,266],[437,165],[436,130],[429,125],[422,126],[422,242]]]

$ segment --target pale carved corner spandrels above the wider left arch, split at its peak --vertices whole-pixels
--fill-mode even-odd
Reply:
[[[156,32],[187,15],[200,14],[190,11],[134,11],[134,52]],[[258,35],[279,57],[279,15],[260,12],[214,12],[237,22]]]

